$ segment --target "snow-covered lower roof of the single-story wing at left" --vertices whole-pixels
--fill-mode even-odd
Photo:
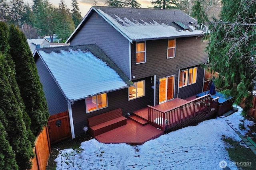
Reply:
[[[133,85],[96,45],[36,49],[68,101]]]

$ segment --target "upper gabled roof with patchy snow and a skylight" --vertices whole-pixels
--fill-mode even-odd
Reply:
[[[70,35],[66,41],[67,43],[86,23],[93,11],[102,16],[130,42],[170,37],[190,37],[203,34],[202,30],[195,28],[197,26],[196,20],[181,10],[92,6],[75,31]],[[181,22],[188,27],[188,30],[178,26],[174,21]]]

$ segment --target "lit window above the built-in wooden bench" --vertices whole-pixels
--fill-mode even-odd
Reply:
[[[98,94],[86,98],[86,112],[91,112],[108,107],[107,94]]]

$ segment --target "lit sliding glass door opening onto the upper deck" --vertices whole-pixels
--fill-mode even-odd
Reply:
[[[175,76],[159,79],[159,104],[174,98],[174,80]]]

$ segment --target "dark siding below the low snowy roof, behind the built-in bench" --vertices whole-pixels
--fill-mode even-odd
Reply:
[[[87,126],[88,117],[99,115],[101,113],[105,113],[107,111],[111,111],[117,108],[121,108],[123,115],[126,116],[127,113],[131,113],[132,111],[150,105],[152,97],[150,77],[142,80],[145,80],[146,90],[145,96],[141,98],[128,101],[128,88],[110,92],[107,94],[108,107],[90,113],[86,113],[85,100],[79,100],[74,102],[74,104],[72,105],[72,115],[74,121],[75,137],[85,133],[83,127]]]

